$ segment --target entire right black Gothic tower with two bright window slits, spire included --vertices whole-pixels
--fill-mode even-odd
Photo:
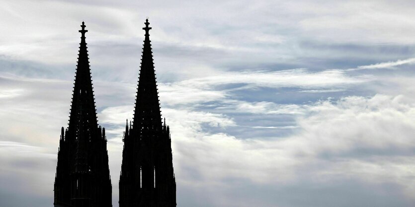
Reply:
[[[175,207],[176,182],[171,140],[162,124],[153,55],[146,20],[133,125],[125,126],[120,207]]]

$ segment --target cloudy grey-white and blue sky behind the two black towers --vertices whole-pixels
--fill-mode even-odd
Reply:
[[[149,18],[178,207],[412,207],[414,6],[0,0],[0,206],[53,205],[84,21],[118,207]]]

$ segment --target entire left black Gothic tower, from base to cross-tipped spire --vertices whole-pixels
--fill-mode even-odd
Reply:
[[[66,130],[61,129],[55,177],[55,207],[112,207],[112,186],[108,168],[105,129],[98,127],[85,25],[74,94]]]

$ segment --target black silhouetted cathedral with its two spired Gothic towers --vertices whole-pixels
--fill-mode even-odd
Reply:
[[[133,124],[128,121],[119,180],[120,207],[175,207],[171,139],[162,123],[146,19]],[[54,184],[55,207],[112,207],[105,128],[98,126],[85,24],[75,75],[69,125],[61,128]]]

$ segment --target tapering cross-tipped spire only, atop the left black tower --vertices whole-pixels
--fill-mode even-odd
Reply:
[[[81,125],[83,125],[83,130],[89,133],[94,133],[98,127],[95,102],[93,98],[91,71],[89,69],[88,51],[86,50],[87,47],[85,42],[85,33],[88,30],[85,30],[84,22],[82,22],[81,27],[82,29],[79,30],[79,32],[82,36],[79,47],[80,50],[75,75],[74,94],[72,97],[72,107],[68,127],[68,131],[73,133],[77,138],[79,137],[79,132],[81,131]],[[81,114],[83,116],[82,118]]]

